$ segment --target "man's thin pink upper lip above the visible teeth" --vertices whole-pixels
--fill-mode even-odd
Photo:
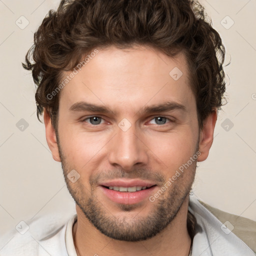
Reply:
[[[105,181],[100,183],[101,186],[122,186],[122,187],[132,187],[132,186],[146,186],[150,187],[156,185],[155,182],[141,180],[141,179],[114,179],[110,181]]]

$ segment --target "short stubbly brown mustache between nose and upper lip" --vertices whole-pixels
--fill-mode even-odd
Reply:
[[[89,178],[90,185],[103,182],[108,179],[116,178],[138,178],[154,181],[157,185],[164,183],[166,177],[159,171],[153,171],[148,168],[132,168],[131,170],[124,170],[122,168],[98,171]]]

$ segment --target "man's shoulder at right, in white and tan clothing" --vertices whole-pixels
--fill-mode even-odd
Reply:
[[[255,256],[255,221],[214,208],[195,194],[189,195],[188,210],[196,220],[193,252],[204,251],[203,255],[221,253],[222,256]]]

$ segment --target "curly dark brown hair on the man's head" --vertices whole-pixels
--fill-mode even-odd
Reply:
[[[37,118],[49,111],[57,124],[59,94],[47,95],[92,49],[114,45],[148,45],[174,56],[184,53],[195,95],[199,127],[223,105],[225,48],[207,21],[204,8],[193,0],[61,0],[49,10],[34,33],[34,44],[22,66],[32,70],[37,87]]]

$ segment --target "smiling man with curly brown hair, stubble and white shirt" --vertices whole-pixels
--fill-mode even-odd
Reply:
[[[254,255],[189,195],[223,104],[224,52],[190,0],[62,0],[49,11],[23,67],[77,214],[1,255]]]

